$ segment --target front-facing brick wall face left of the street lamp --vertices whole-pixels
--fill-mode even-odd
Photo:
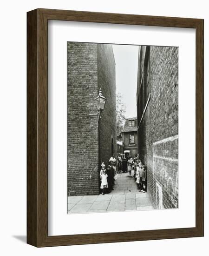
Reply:
[[[67,43],[68,195],[98,193],[97,44]],[[94,156],[94,157],[92,157]]]

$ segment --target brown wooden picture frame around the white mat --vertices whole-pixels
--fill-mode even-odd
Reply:
[[[69,20],[196,29],[196,227],[48,236],[47,22]],[[27,243],[36,247],[203,236],[203,20],[36,9],[27,13]]]

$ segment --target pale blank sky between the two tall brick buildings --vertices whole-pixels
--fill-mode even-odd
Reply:
[[[122,94],[126,118],[137,116],[138,46],[112,45],[116,62],[116,91]]]

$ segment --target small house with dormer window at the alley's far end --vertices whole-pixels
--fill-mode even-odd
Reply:
[[[124,154],[131,155],[138,153],[138,136],[137,136],[137,117],[128,118],[125,120],[122,131],[124,141]]]

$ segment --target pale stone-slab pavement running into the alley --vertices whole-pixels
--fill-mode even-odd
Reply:
[[[118,174],[114,190],[105,195],[68,196],[68,214],[154,209],[149,193],[138,192],[133,177]]]

